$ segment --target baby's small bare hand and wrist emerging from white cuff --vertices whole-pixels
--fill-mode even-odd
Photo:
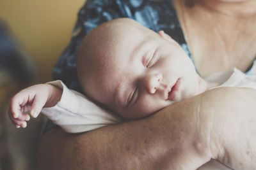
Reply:
[[[30,115],[36,118],[43,107],[55,106],[60,101],[61,94],[62,90],[54,85],[33,85],[12,97],[8,115],[17,128],[26,127],[26,121],[30,117],[24,112],[30,110]]]

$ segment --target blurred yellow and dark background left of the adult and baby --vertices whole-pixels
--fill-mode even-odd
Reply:
[[[85,1],[0,0],[0,170],[35,169],[45,117],[16,129],[8,105],[24,87],[52,80],[52,67],[68,45]]]

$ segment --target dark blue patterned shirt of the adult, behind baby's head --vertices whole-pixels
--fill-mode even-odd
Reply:
[[[193,61],[171,0],[87,0],[78,13],[70,44],[54,67],[53,79],[62,80],[70,89],[81,92],[76,74],[76,55],[82,39],[97,25],[120,17],[132,18],[156,32],[163,30],[182,46]],[[251,72],[252,69],[248,69],[246,74]]]

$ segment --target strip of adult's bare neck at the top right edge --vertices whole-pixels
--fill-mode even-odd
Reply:
[[[232,17],[251,17],[256,15],[255,0],[194,0],[194,2],[213,12]]]

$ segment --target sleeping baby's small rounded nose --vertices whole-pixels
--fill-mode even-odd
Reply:
[[[145,87],[150,94],[155,94],[160,82],[163,80],[161,73],[148,75],[145,77]]]

